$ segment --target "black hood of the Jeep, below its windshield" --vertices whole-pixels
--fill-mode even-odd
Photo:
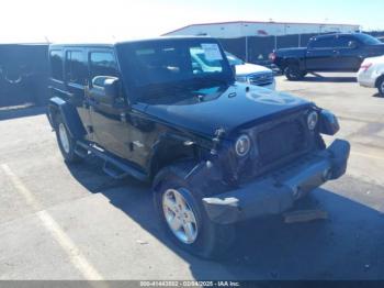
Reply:
[[[246,87],[250,87],[249,92]],[[217,97],[212,96],[216,93]],[[236,84],[222,91],[200,93],[204,98],[191,96],[188,100],[166,104],[148,104],[145,112],[170,125],[190,132],[214,136],[217,129],[226,135],[241,125],[255,124],[295,110],[313,106],[304,99],[276,92],[266,88]],[[211,99],[210,99],[211,98]]]

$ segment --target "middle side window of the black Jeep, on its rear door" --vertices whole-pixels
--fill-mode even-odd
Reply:
[[[67,51],[66,80],[72,84],[84,85],[88,78],[88,68],[84,53],[81,51]]]

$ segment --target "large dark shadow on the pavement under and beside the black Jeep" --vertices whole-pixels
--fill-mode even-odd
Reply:
[[[280,217],[273,217],[239,224],[234,248],[228,251],[226,261],[218,263],[191,256],[165,236],[149,185],[132,179],[111,180],[94,158],[68,168],[90,192],[103,193],[111,204],[189,263],[197,280],[384,278],[382,213],[340,196],[364,192],[353,191],[353,187],[364,187],[354,178],[346,176],[339,180],[339,195],[332,189],[317,189],[297,203],[298,209],[326,210],[328,220],[285,224]],[[371,186],[370,189],[374,192]],[[382,190],[379,186],[374,189]]]

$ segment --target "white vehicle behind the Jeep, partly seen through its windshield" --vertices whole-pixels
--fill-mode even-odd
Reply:
[[[193,59],[196,62],[197,67],[202,67],[204,70],[213,70],[215,67],[214,62],[208,62],[204,56],[202,48],[195,49]],[[273,71],[267,67],[245,63],[229,52],[225,52],[227,59],[236,70],[236,80],[239,82],[246,82],[249,85],[256,85],[264,87],[271,90],[275,89],[275,79]]]

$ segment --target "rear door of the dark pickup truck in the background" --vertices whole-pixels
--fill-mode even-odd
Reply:
[[[321,36],[310,41],[305,60],[307,70],[327,71],[337,69],[335,36]]]

